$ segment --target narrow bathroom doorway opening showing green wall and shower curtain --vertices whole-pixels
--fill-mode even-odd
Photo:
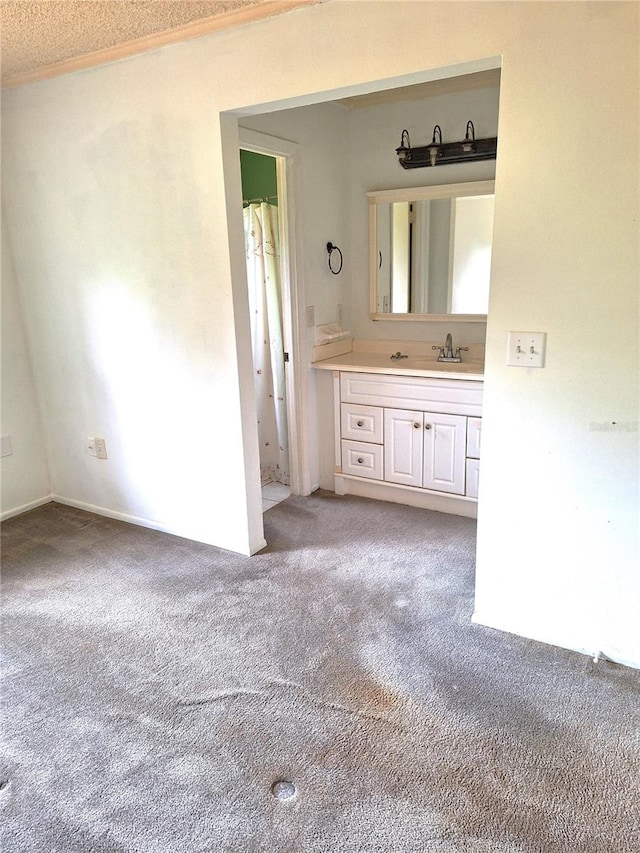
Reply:
[[[286,200],[279,186],[277,157],[241,148],[240,168],[264,512],[289,497],[292,482],[284,287],[288,253],[282,221]]]

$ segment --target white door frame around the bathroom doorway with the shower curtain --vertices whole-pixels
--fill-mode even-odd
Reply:
[[[245,151],[275,158],[280,237],[282,295],[282,336],[289,361],[285,362],[287,429],[289,433],[289,469],[291,494],[311,494],[309,430],[305,428],[308,394],[305,382],[300,304],[296,275],[296,233],[294,170],[298,144],[276,136],[238,126],[239,147]],[[257,429],[257,427],[256,427]]]

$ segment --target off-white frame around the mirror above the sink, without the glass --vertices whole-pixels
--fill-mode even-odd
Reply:
[[[486,323],[486,314],[381,314],[377,308],[378,283],[378,217],[379,204],[396,201],[425,201],[434,198],[460,198],[495,194],[495,181],[469,181],[463,184],[438,184],[430,187],[407,187],[367,193],[369,204],[369,316],[372,320],[398,320],[410,323]]]

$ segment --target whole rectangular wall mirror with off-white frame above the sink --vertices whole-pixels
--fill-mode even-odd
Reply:
[[[372,319],[485,322],[494,181],[367,198]]]

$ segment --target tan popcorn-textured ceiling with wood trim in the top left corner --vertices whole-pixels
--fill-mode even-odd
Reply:
[[[196,21],[233,26],[309,0],[2,0],[2,79],[139,42]],[[242,18],[241,16],[244,17]],[[133,52],[133,51],[132,51]],[[99,57],[96,57],[99,61]],[[91,64],[91,63],[87,63]]]

